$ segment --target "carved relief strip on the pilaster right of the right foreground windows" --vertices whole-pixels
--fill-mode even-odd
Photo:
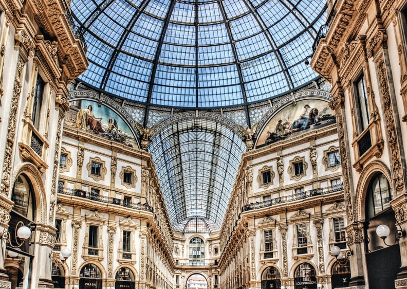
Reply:
[[[390,100],[389,83],[387,82],[386,67],[383,59],[378,63],[380,89],[383,99],[384,119],[386,121],[387,139],[389,140],[390,153],[393,164],[394,186],[397,192],[404,189],[403,171],[401,166],[400,150]]]

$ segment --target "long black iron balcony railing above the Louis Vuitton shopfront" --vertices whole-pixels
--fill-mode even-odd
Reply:
[[[289,203],[289,202],[293,202],[293,201],[304,200],[305,198],[308,198],[308,197],[317,196],[317,195],[325,195],[325,194],[334,193],[334,192],[338,192],[338,191],[342,191],[342,190],[343,190],[343,185],[340,184],[340,185],[335,185],[335,186],[326,187],[326,188],[313,189],[313,190],[305,191],[305,192],[298,193],[298,194],[276,197],[276,198],[272,198],[271,200],[267,200],[264,202],[245,205],[242,208],[242,212],[255,210],[255,209],[262,209],[262,208],[279,205],[279,204],[283,204],[283,203]]]

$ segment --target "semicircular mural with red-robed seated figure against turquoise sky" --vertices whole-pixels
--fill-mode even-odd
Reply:
[[[136,137],[123,119],[105,105],[90,100],[72,102],[77,110],[76,119],[67,122],[72,127],[97,134],[109,140],[118,141],[128,147],[138,148]]]

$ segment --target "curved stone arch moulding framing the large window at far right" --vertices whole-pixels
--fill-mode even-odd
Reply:
[[[355,214],[355,222],[362,221],[365,219],[365,202],[366,202],[366,191],[368,184],[370,183],[371,179],[375,175],[375,173],[381,172],[384,176],[389,180],[389,185],[392,189],[392,198],[394,197],[394,184],[391,181],[391,173],[390,169],[379,160],[375,160],[370,162],[366,167],[363,169],[362,173],[360,174],[358,185],[356,186],[356,198],[354,204],[354,214]]]

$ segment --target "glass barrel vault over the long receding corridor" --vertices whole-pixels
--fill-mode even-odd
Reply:
[[[191,118],[159,132],[150,148],[173,229],[219,230],[246,151],[242,139],[221,123]]]

